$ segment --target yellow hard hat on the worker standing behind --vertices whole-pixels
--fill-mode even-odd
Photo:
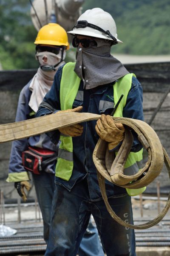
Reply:
[[[39,30],[34,44],[66,46],[69,49],[68,36],[65,29],[57,23],[49,23]]]

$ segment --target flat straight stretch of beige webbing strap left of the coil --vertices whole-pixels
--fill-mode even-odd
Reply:
[[[99,119],[100,115],[91,113],[58,112],[39,118],[0,125],[0,143],[19,140],[44,132],[50,132],[71,124]]]

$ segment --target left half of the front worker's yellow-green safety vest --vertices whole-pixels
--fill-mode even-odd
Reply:
[[[81,79],[74,72],[75,63],[68,62],[62,69],[60,83],[60,105],[61,110],[72,109],[77,95]],[[73,141],[72,137],[60,135],[61,144],[58,150],[58,158],[55,175],[61,179],[69,180],[73,171]]]

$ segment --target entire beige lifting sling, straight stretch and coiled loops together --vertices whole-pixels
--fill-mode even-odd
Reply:
[[[97,120],[100,115],[91,113],[76,112],[58,112],[52,115],[46,115],[39,118],[33,118],[26,121],[20,121],[11,124],[0,125],[0,143],[14,141],[21,138],[38,135],[40,133],[49,132],[61,127],[72,124],[82,123],[85,121]],[[122,221],[108,203],[105,191],[105,179],[124,188],[142,188],[150,184],[161,172],[165,163],[170,176],[170,159],[167,152],[161,145],[156,132],[145,122],[130,118],[113,118],[116,123],[125,125],[125,138],[116,158],[113,160],[107,150],[107,142],[99,139],[93,153],[94,164],[97,169],[99,186],[105,205],[111,217],[119,224],[133,229],[146,229],[159,223],[170,208],[170,194],[166,206],[162,212],[152,221],[141,225],[132,225]],[[130,147],[132,144],[131,130],[138,134],[138,139],[148,152],[148,161],[144,168],[137,174],[126,176],[123,174]]]

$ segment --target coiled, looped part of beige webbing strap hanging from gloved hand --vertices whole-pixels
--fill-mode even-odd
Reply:
[[[118,152],[118,157],[116,156],[117,158],[113,160],[112,166],[109,166],[109,168],[111,169],[110,174],[108,174],[107,172],[107,166],[105,162],[105,151],[107,143],[99,139],[93,153],[93,160],[94,164],[96,165],[97,177],[103,200],[111,217],[122,226],[130,227],[133,229],[147,229],[153,227],[154,225],[159,223],[159,221],[161,221],[161,219],[166,215],[168,209],[170,208],[170,194],[168,196],[167,203],[164,209],[155,219],[145,224],[133,225],[126,223],[121,218],[119,218],[111,208],[105,190],[105,179],[108,179],[110,182],[113,182],[114,184],[120,185],[124,188],[142,188],[142,186],[150,184],[150,182],[152,182],[160,174],[163,168],[163,163],[165,163],[166,165],[170,178],[170,159],[167,155],[166,150],[162,147],[161,142],[156,135],[156,132],[148,124],[144,123],[143,121],[130,118],[113,119],[115,120],[115,122],[124,124],[127,131],[125,132],[125,138],[122,142],[122,146],[119,149],[121,154],[119,154]],[[148,152],[148,161],[145,164],[144,168],[142,168],[137,174],[134,174],[132,176],[126,176],[122,173],[122,166],[125,164],[125,159],[127,158],[127,152],[129,150],[129,145],[127,145],[126,147],[126,135],[130,136],[129,129],[133,129],[138,134],[138,138]],[[115,170],[113,171],[112,168],[115,168]],[[114,179],[114,176],[110,176],[113,173],[116,174],[116,178]],[[122,183],[125,185],[122,185]]]

